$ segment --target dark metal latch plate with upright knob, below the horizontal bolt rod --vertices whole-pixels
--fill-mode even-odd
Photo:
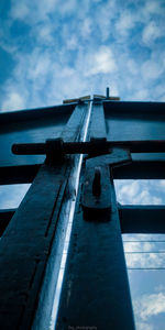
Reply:
[[[132,161],[128,150],[113,148],[111,154],[86,161],[81,206],[86,220],[109,221],[111,213],[111,182],[109,166],[122,166]]]

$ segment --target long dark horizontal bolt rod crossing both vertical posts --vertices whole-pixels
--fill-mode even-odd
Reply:
[[[165,152],[165,140],[148,141],[90,141],[90,142],[63,142],[50,140],[46,143],[20,143],[12,145],[12,152],[18,155],[42,155],[51,152],[63,152],[64,154],[90,154],[95,150],[108,153],[112,147],[130,150],[131,153],[161,153]]]

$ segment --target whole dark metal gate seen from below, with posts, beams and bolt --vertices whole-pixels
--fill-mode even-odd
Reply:
[[[1,329],[133,330],[122,233],[164,233],[164,206],[123,206],[113,179],[165,178],[165,103],[87,96],[0,114]]]

